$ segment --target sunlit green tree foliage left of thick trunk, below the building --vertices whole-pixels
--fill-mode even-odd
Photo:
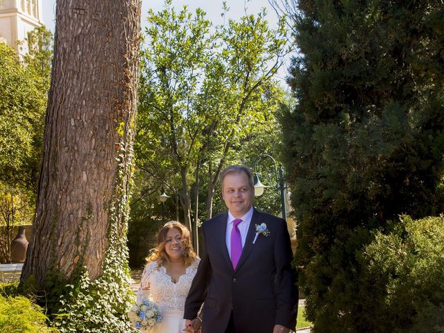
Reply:
[[[28,33],[23,62],[0,45],[0,180],[37,193],[44,114],[51,75],[51,32]],[[35,198],[34,198],[35,200]]]

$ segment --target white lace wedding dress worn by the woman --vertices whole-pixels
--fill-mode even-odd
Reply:
[[[183,333],[185,320],[183,311],[191,282],[196,275],[199,259],[187,267],[185,275],[180,275],[178,282],[171,281],[164,266],[157,267],[157,262],[145,266],[142,273],[137,300],[146,299],[155,302],[162,311],[162,321],[157,323],[149,333]],[[148,287],[149,291],[143,290]]]

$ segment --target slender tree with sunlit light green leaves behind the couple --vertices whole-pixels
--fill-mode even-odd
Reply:
[[[176,12],[171,1],[148,12],[148,48],[142,53],[138,115],[139,167],[180,191],[194,244],[200,178],[210,177],[207,210],[230,150],[273,113],[273,76],[282,63],[282,25],[266,13],[210,28],[205,13]],[[192,191],[191,191],[192,189]]]

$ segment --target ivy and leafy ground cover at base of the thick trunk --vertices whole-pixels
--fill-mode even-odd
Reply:
[[[60,332],[131,332],[126,316],[133,302],[128,250],[115,231],[110,232],[110,247],[99,278],[90,280],[79,261],[68,280],[54,271],[46,280],[46,293],[44,297],[39,293],[40,301],[45,302]]]

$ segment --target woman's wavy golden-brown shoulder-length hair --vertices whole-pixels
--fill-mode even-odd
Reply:
[[[147,262],[157,262],[157,266],[160,267],[164,262],[169,262],[169,257],[165,251],[165,239],[169,230],[176,228],[182,234],[182,248],[183,248],[183,260],[185,266],[193,264],[197,255],[193,250],[193,246],[190,241],[189,230],[185,225],[178,221],[169,221],[160,228],[157,232],[157,248],[153,248],[150,251],[150,255],[146,258]]]

